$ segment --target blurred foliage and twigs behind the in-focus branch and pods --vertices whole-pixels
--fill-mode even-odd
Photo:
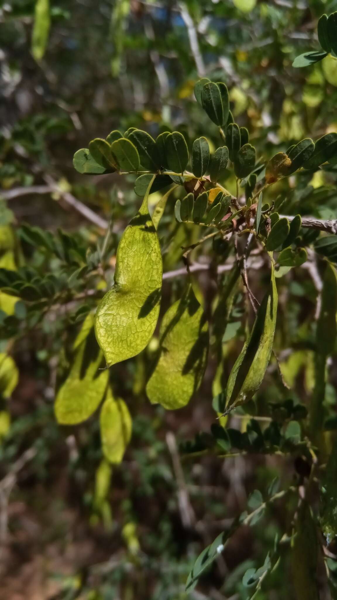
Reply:
[[[216,394],[221,388],[212,361],[197,398],[179,412],[146,400],[146,364],[155,341],[136,359],[112,368],[114,389],[133,416],[122,466],[103,460],[96,416],[73,428],[56,424],[56,378],[59,383],[67,373],[79,323],[96,297],[85,290],[101,294],[104,224],[111,218],[105,248],[110,283],[119,238],[139,206],[133,176],[83,178],[72,159],[89,139],[128,127],[154,137],[177,130],[188,143],[207,135],[216,148],[218,130],[193,96],[203,76],[226,83],[234,118],[248,128],[264,160],[302,137],[337,132],[333,59],[308,69],[291,67],[295,56],[317,47],[321,14],[336,10],[337,0],[0,2],[0,263],[15,269],[29,262],[37,272],[54,274],[59,300],[52,307],[35,305],[27,315],[25,302],[0,295],[0,350],[11,353],[20,374],[16,385],[16,367],[8,367],[15,385],[9,391],[2,386],[1,398],[2,598],[246,600],[243,574],[263,564],[275,537],[290,527],[287,503],[282,510],[273,506],[257,527],[239,527],[198,592],[185,593],[195,557],[246,509],[251,491],[267,494],[275,476],[285,487],[298,483],[308,469],[308,456],[298,453],[192,460],[182,448],[180,461],[179,443],[209,431],[215,418],[210,389]],[[333,218],[336,174],[329,166],[287,179],[273,194],[282,193],[287,214]],[[226,185],[234,193],[234,179]],[[152,194],[152,203],[157,200]],[[83,206],[101,221],[91,223]],[[182,266],[180,246],[195,241],[195,232],[178,231],[171,215],[161,221],[164,271]],[[52,232],[49,241],[34,238],[34,226]],[[226,252],[222,248],[223,259]],[[202,272],[197,281],[210,314],[215,282]],[[182,285],[179,277],[165,282],[164,309]],[[259,278],[254,283],[252,275],[251,285],[260,297]],[[26,292],[29,298],[31,290]],[[85,303],[79,306],[74,299],[80,294]],[[282,374],[295,403],[308,403],[313,388],[316,297],[315,278],[305,269],[295,269],[279,286],[276,342],[285,349]],[[237,292],[224,338],[229,364],[243,340],[244,302]],[[296,422],[275,373],[271,365],[257,398],[259,414],[268,419],[266,406],[279,403],[281,422]],[[326,391],[330,424],[336,383],[332,369]],[[231,417],[231,427],[242,433],[247,424],[244,413]],[[278,569],[257,598],[292,594],[290,578]],[[330,597],[324,586],[322,594]]]

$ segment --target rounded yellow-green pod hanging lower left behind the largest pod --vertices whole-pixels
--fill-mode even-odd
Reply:
[[[56,396],[55,415],[63,425],[75,425],[85,421],[103,399],[109,371],[99,370],[103,355],[98,347],[98,352],[95,352],[95,346],[95,338],[89,334],[80,344],[70,374]],[[91,356],[93,349],[94,357]]]

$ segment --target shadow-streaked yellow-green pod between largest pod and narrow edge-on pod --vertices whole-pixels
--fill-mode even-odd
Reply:
[[[188,403],[203,378],[208,344],[208,323],[189,285],[161,323],[160,355],[146,386],[152,404],[179,409]]]

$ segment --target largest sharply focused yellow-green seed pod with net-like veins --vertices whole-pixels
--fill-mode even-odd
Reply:
[[[104,296],[95,317],[97,341],[109,367],[142,352],[157,325],[163,261],[148,211],[153,181],[154,178],[139,212],[119,242],[115,284]]]

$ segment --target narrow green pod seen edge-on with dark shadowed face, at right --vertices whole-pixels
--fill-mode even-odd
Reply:
[[[276,325],[277,290],[272,263],[270,288],[264,296],[251,331],[227,383],[226,410],[249,400],[260,387],[273,349]]]

